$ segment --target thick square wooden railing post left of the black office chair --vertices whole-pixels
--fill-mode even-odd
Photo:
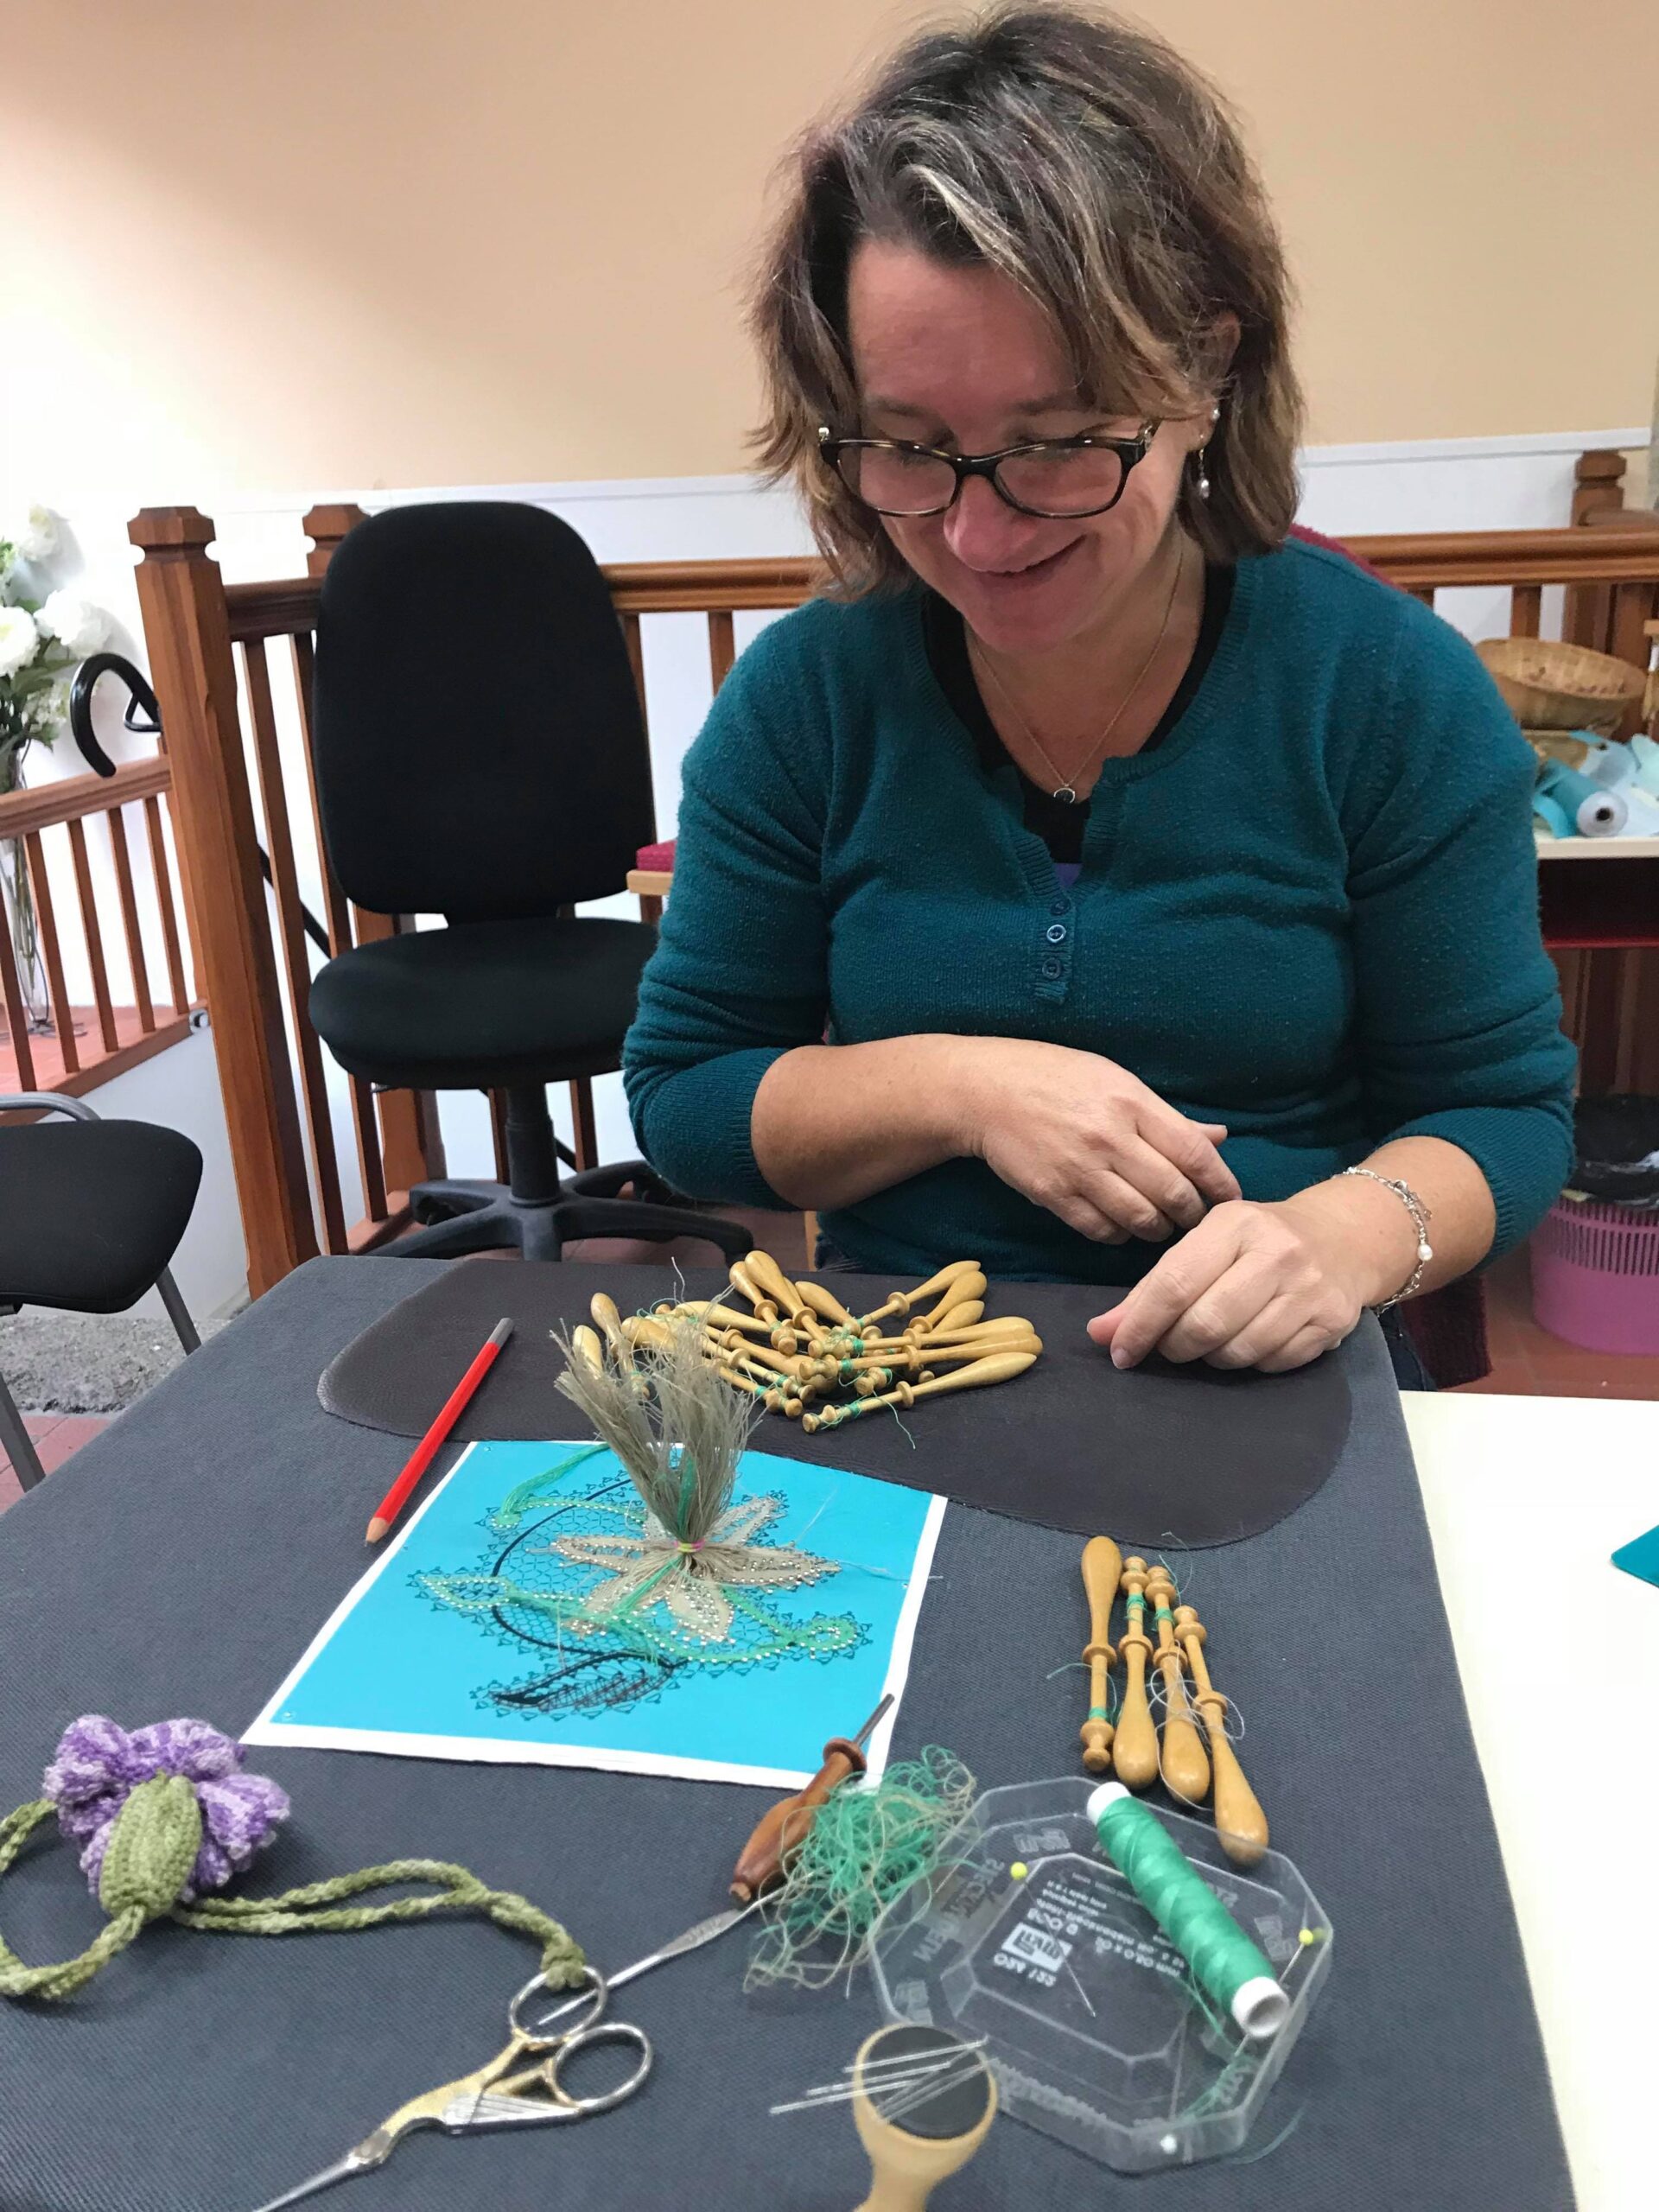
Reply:
[[[137,593],[173,768],[173,825],[197,978],[212,1015],[248,1287],[261,1296],[316,1259],[316,1225],[265,922],[223,580],[208,560],[212,522],[195,507],[146,507],[128,538],[144,555]]]

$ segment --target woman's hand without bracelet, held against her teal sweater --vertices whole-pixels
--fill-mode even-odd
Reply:
[[[962,1148],[1097,1243],[1192,1230],[1239,1197],[1219,1121],[1188,1121],[1097,1053],[962,1040]]]

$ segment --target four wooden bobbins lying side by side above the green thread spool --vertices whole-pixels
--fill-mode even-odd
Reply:
[[[1110,1621],[1119,1590],[1124,1632],[1113,1648]],[[1084,1646],[1088,1719],[1079,1730],[1084,1765],[1091,1774],[1113,1772],[1128,1790],[1150,1790],[1161,1776],[1183,1805],[1201,1805],[1214,1792],[1221,1849],[1234,1865],[1254,1867],[1267,1849],[1267,1816],[1228,1739],[1228,1701],[1210,1681],[1203,1621],[1192,1606],[1179,1604],[1181,1593],[1166,1566],[1148,1566],[1139,1557],[1124,1559],[1106,1535],[1084,1544],[1084,1593],[1088,1597]],[[1148,1604],[1155,1637],[1146,1632]],[[1119,1659],[1124,1694],[1113,1721],[1108,1683]],[[1152,1677],[1161,1686],[1157,1717],[1150,1699]]]

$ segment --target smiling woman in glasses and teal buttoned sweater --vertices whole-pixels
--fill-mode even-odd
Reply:
[[[1296,1367],[1544,1214],[1531,757],[1287,535],[1285,323],[1232,119],[1113,18],[927,33],[803,142],[761,456],[830,588],[686,761],[626,1051],[679,1188],[869,1272],[1133,1285],[1117,1365]]]

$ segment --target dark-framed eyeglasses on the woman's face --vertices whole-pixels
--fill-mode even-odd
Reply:
[[[1133,438],[1037,438],[1000,453],[945,453],[905,438],[832,438],[818,429],[825,467],[878,515],[942,515],[969,476],[982,476],[1022,515],[1077,520],[1104,515],[1124,498],[1128,471],[1146,460],[1157,422]]]

